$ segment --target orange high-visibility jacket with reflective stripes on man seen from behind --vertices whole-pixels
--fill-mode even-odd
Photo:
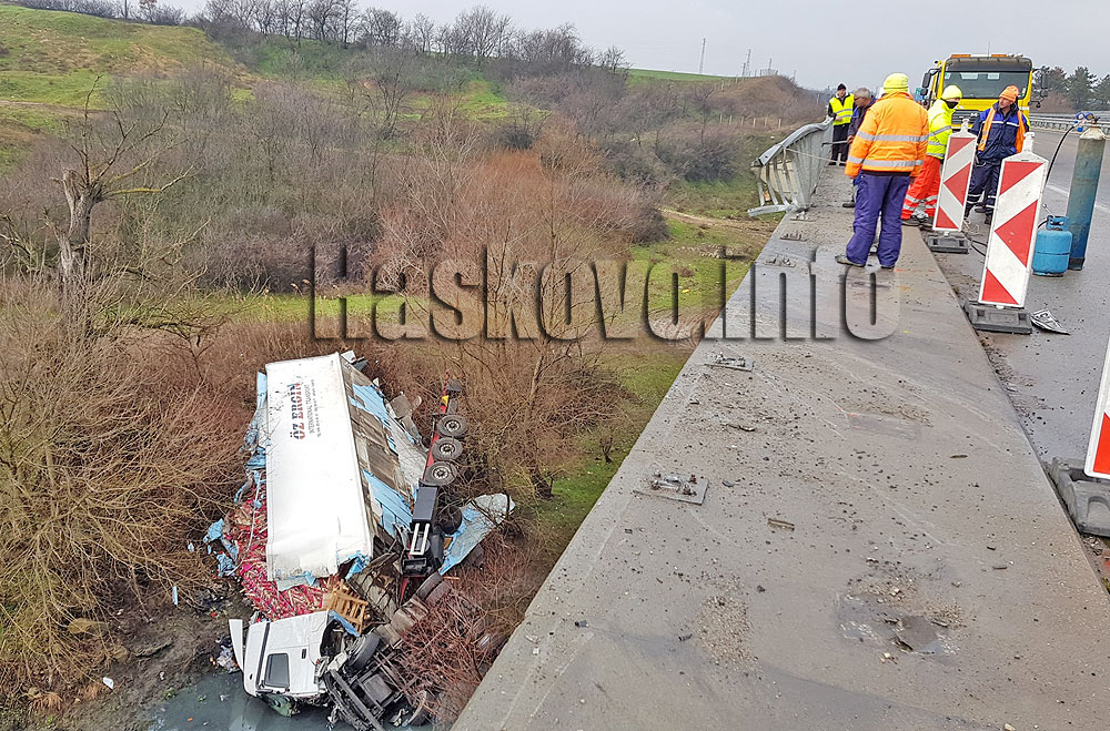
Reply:
[[[848,152],[845,172],[855,177],[860,170],[916,175],[929,146],[929,114],[905,92],[875,102]]]

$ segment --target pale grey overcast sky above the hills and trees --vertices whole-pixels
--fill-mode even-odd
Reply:
[[[204,0],[163,0],[196,11]],[[478,4],[464,0],[361,2],[436,22]],[[595,48],[617,45],[636,68],[697,71],[706,39],[705,72],[739,74],[751,65],[797,72],[804,87],[839,82],[878,87],[902,71],[910,82],[950,53],[1022,53],[1035,65],[1071,72],[1088,65],[1110,73],[1107,0],[972,0],[971,2],[819,2],[817,0],[542,0],[484,4],[525,28],[573,23]]]

